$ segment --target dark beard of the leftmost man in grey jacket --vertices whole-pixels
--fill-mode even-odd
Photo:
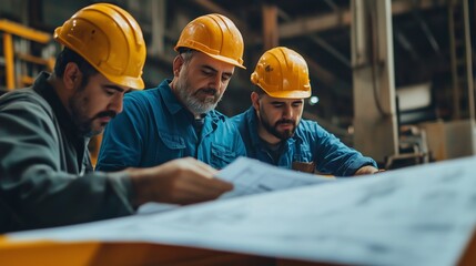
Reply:
[[[93,117],[88,117],[87,111],[89,99],[83,96],[83,93],[81,93],[82,90],[83,89],[79,89],[79,91],[74,93],[74,95],[69,100],[71,119],[80,136],[91,137],[100,134],[103,130],[103,127],[92,127],[94,120],[105,116],[110,116],[111,119],[113,119],[115,117],[117,113],[114,111],[104,111],[98,113]],[[105,126],[105,124],[107,123],[104,123],[103,126]]]

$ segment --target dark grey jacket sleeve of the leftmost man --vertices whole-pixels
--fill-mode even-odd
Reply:
[[[0,232],[130,215],[123,173],[78,176],[61,167],[61,136],[38,103],[0,108]]]

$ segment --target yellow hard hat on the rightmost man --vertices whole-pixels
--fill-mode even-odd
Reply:
[[[285,47],[273,48],[261,55],[251,74],[251,82],[272,98],[311,96],[306,61],[301,54]]]

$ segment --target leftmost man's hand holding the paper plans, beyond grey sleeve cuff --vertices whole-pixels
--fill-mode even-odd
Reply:
[[[214,200],[233,185],[214,178],[216,170],[192,158],[178,158],[151,168],[128,168],[135,206],[146,202],[192,204]]]

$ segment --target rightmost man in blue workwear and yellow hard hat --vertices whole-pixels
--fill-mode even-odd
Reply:
[[[311,96],[305,60],[278,47],[266,51],[251,75],[252,106],[232,120],[247,156],[303,172],[350,176],[378,172],[376,163],[346,146],[316,122],[301,120]]]

